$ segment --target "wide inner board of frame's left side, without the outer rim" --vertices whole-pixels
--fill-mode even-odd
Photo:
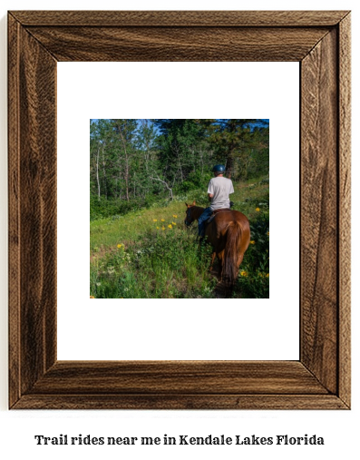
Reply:
[[[56,63],[21,31],[20,215],[22,387],[56,359]]]

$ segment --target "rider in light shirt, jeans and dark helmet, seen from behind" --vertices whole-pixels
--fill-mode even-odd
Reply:
[[[232,181],[224,177],[225,166],[217,164],[212,168],[214,176],[209,181],[208,197],[210,201],[209,208],[203,210],[199,217],[199,237],[202,239],[205,235],[205,222],[209,219],[214,210],[229,209],[229,194],[234,193]]]

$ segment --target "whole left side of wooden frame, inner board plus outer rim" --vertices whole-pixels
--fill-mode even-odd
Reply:
[[[56,63],[9,21],[14,41],[21,53],[11,58],[9,81],[9,359],[10,380],[24,394],[56,359]]]

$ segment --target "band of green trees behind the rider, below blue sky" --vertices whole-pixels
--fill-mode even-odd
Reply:
[[[130,201],[138,206],[157,195],[171,199],[176,192],[203,190],[217,163],[226,164],[234,180],[268,172],[268,121],[90,121],[90,187],[97,210],[129,210]]]

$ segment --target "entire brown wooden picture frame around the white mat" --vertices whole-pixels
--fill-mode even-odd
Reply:
[[[349,12],[14,11],[8,40],[9,406],[349,408]],[[57,61],[300,63],[299,361],[56,360]]]

